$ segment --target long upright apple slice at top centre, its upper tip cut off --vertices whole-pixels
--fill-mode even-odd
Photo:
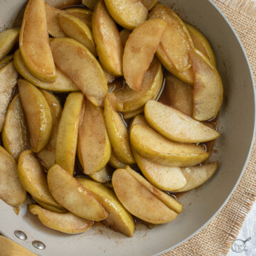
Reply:
[[[97,46],[102,67],[112,75],[122,76],[122,57],[124,48],[117,24],[101,0],[92,15],[92,33]]]

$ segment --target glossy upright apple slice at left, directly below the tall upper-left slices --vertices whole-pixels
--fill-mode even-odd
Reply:
[[[18,95],[28,125],[29,144],[37,153],[50,139],[53,128],[50,107],[42,92],[26,80],[18,80]]]

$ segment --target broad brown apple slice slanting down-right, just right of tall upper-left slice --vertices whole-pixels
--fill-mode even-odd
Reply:
[[[50,41],[55,64],[94,105],[100,106],[107,95],[107,80],[100,63],[85,46],[71,38]]]

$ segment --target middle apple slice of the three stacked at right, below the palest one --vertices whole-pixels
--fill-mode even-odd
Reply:
[[[171,142],[153,129],[140,124],[132,127],[130,139],[140,155],[166,166],[192,166],[200,164],[209,156],[203,146]]]

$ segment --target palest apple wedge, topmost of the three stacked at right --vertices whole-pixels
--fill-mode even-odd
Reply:
[[[214,129],[155,100],[146,102],[144,114],[153,129],[174,142],[200,143],[220,137]]]

